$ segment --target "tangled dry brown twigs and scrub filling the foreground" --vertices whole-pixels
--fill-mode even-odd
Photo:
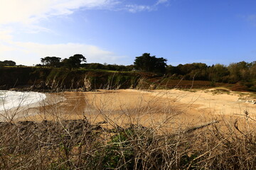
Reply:
[[[238,122],[159,135],[84,120],[1,123],[1,169],[255,169],[256,136]],[[247,126],[255,124],[247,121]]]

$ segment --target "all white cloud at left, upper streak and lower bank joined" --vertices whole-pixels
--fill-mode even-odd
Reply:
[[[77,53],[88,62],[120,63],[123,56],[102,50],[95,45],[62,43],[47,45],[35,42],[16,42],[14,33],[50,32],[40,26],[43,19],[52,16],[68,16],[80,9],[114,9],[132,13],[154,11],[154,5],[125,4],[122,0],[0,0],[0,60],[14,60],[17,64],[38,64],[41,57],[70,57]]]

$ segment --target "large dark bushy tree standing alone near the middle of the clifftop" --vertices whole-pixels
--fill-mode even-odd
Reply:
[[[166,62],[167,60],[163,57],[156,58],[156,56],[150,56],[150,53],[144,53],[142,56],[136,57],[134,67],[144,72],[164,73]]]

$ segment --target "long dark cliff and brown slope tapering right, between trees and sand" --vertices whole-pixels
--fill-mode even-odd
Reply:
[[[218,83],[145,72],[114,72],[102,69],[48,67],[0,67],[0,89],[59,91],[93,89],[208,89],[225,86],[233,91],[250,91],[240,84]]]

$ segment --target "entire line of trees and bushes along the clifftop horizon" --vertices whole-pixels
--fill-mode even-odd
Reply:
[[[191,64],[178,64],[172,66],[166,64],[167,60],[163,57],[151,56],[150,53],[144,53],[135,57],[132,65],[100,64],[87,63],[83,55],[76,54],[69,58],[61,60],[60,57],[41,58],[41,64],[37,67],[63,67],[67,69],[106,69],[120,72],[152,72],[156,75],[171,77],[172,79],[187,80],[205,80],[223,83],[242,82],[249,89],[256,91],[256,61],[255,62],[237,62],[228,66],[224,64],[213,64],[208,66],[205,63],[194,62]],[[13,61],[0,62],[0,65],[14,66]]]

